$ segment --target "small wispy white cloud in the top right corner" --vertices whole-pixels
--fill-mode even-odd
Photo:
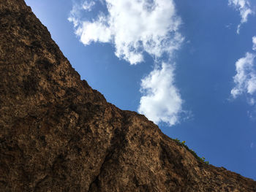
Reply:
[[[239,23],[236,30],[237,34],[239,34],[241,24],[246,23],[248,16],[254,14],[254,12],[251,9],[249,0],[228,0],[228,4],[235,7],[240,12],[241,22]]]

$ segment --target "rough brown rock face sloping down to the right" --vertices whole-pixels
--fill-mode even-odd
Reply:
[[[0,15],[0,191],[256,191],[108,103],[23,0]]]

